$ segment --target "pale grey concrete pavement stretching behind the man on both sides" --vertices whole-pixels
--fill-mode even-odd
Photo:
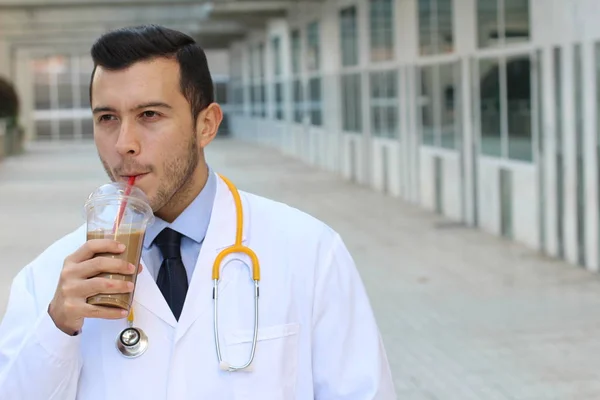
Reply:
[[[254,144],[209,162],[244,190],[338,230],[364,279],[400,399],[600,398],[600,277],[343,182]],[[0,163],[0,306],[10,280],[83,222],[106,177],[93,145],[31,147]]]

